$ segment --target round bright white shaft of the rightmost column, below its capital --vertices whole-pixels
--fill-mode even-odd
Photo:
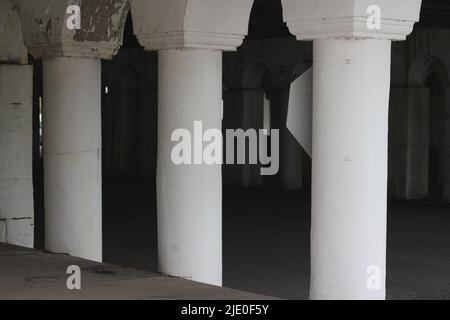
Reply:
[[[384,299],[388,40],[314,42],[312,299]]]

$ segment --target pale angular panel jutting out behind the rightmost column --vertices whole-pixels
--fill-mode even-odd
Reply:
[[[309,68],[292,84],[286,127],[309,156],[312,154],[312,75]]]

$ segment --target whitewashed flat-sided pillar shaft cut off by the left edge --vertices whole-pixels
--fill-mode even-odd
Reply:
[[[0,64],[0,242],[33,247],[33,68]]]

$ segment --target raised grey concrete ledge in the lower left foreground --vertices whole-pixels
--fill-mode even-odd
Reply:
[[[81,290],[68,290],[66,269],[81,268]],[[100,270],[103,270],[101,272]],[[0,244],[0,299],[271,299],[145,271]]]

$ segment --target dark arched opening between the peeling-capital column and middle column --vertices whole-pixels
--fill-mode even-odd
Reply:
[[[131,12],[123,46],[102,61],[103,257],[157,272],[157,54],[141,47]]]

